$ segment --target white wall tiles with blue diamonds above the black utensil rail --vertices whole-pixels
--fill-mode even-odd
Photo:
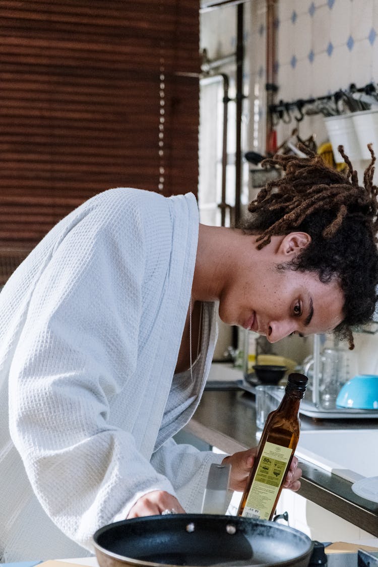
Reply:
[[[376,81],[377,32],[375,0],[279,1],[280,96],[321,96]]]

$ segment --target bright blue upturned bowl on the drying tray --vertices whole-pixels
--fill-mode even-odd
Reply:
[[[354,376],[339,391],[336,405],[339,408],[378,410],[378,376],[376,374]]]

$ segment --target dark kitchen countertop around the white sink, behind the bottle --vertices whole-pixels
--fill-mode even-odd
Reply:
[[[213,365],[210,380],[219,375]],[[234,374],[235,375],[235,374]],[[240,378],[242,378],[240,370]],[[226,387],[226,383],[225,383]],[[377,420],[313,420],[301,416],[301,430],[373,429]],[[256,446],[256,411],[254,396],[243,390],[205,390],[192,420],[185,430],[211,446],[233,453]],[[378,429],[377,429],[378,435]],[[378,537],[378,504],[360,498],[351,490],[352,483],[304,459],[299,494]]]

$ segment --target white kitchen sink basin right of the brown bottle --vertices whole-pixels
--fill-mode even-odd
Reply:
[[[378,429],[301,431],[295,454],[354,483],[378,475]]]

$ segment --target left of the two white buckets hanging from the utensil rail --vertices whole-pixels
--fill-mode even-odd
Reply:
[[[332,144],[335,163],[344,161],[337,150],[338,146],[344,146],[344,151],[350,160],[363,159],[352,114],[329,116],[324,121],[329,141]]]

